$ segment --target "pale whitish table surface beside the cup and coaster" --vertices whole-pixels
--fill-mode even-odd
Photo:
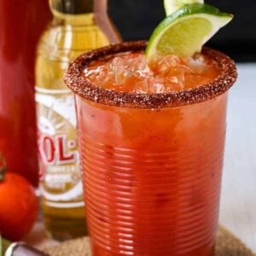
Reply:
[[[256,252],[256,63],[238,65],[230,90],[220,222]],[[26,241],[55,245],[36,224]]]

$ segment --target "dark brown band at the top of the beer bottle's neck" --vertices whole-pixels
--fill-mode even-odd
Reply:
[[[67,15],[79,15],[93,11],[93,0],[49,0],[52,9]]]

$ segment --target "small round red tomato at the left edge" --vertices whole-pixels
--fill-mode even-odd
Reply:
[[[26,178],[11,172],[3,175],[3,170],[0,164],[0,233],[19,241],[37,219],[38,198]]]

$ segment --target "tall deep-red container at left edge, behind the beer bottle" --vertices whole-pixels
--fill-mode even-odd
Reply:
[[[49,20],[46,0],[0,0],[0,152],[9,172],[38,185],[35,51]]]

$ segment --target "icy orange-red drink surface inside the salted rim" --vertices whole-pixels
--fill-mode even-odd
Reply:
[[[165,93],[188,90],[218,77],[219,67],[207,55],[189,59],[166,55],[148,65],[143,52],[94,61],[84,69],[84,78],[105,89],[133,93]]]

